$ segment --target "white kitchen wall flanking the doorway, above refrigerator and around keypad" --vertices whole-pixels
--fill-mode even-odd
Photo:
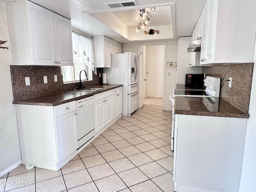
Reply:
[[[125,43],[122,44],[122,52],[134,52],[138,54],[138,43]],[[178,41],[167,41],[167,61],[176,61],[178,58]],[[176,86],[177,70],[175,68],[166,68],[166,86],[165,86],[165,110],[172,109],[172,102],[169,100],[170,94],[172,94]]]

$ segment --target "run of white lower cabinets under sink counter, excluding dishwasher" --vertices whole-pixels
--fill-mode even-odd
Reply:
[[[95,136],[122,113],[122,87],[95,94]],[[58,106],[16,104],[21,163],[59,170],[84,147],[78,148],[76,101]],[[86,124],[86,122],[84,122]]]

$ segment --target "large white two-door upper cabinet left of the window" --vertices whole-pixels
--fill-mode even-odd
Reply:
[[[73,65],[70,20],[27,0],[6,9],[12,64]]]

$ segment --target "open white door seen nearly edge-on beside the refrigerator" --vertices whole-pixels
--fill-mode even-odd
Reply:
[[[141,46],[141,92],[140,92],[140,107],[144,106],[145,102],[145,84],[146,84],[146,49],[145,46]]]

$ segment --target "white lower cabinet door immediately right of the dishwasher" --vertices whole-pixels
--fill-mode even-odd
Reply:
[[[104,99],[95,102],[95,134],[104,128],[105,116],[104,116]]]

